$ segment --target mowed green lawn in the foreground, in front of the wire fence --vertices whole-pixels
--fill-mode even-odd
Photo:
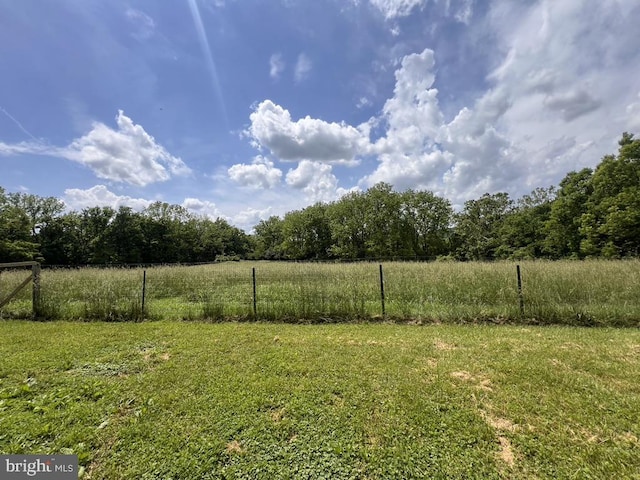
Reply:
[[[640,331],[0,322],[0,452],[84,478],[640,478]]]

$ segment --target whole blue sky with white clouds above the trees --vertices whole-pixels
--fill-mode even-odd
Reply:
[[[249,231],[386,181],[460,206],[640,134],[636,0],[0,0],[0,186]]]

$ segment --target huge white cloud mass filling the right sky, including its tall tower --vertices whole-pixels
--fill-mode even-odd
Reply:
[[[386,132],[373,148],[378,167],[361,184],[429,188],[460,204],[484,192],[521,195],[595,165],[638,124],[637,92],[624,85],[640,75],[631,47],[640,40],[631,28],[640,9],[618,8],[494,2],[475,35],[495,39],[497,67],[484,93],[450,121],[435,88],[434,52],[405,56],[383,108]]]

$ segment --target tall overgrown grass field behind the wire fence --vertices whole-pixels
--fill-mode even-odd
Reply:
[[[229,262],[146,269],[43,270],[39,314],[63,320],[516,322],[640,325],[640,261],[516,264]],[[253,274],[255,272],[255,295]],[[0,298],[26,271],[0,274]],[[0,310],[28,318],[26,289]]]

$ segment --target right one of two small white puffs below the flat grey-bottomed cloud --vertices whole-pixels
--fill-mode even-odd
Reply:
[[[297,168],[289,170],[286,182],[302,190],[311,202],[329,202],[337,196],[338,179],[326,163],[302,160]]]

